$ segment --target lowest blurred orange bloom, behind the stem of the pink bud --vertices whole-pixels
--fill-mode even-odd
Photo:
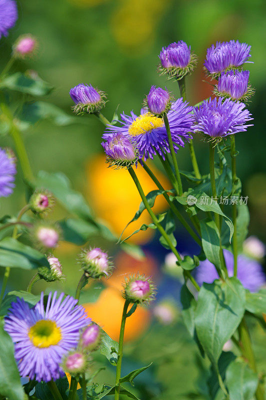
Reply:
[[[83,306],[94,322],[98,323],[113,340],[118,340],[123,304],[124,299],[119,290],[107,287],[102,290],[95,303],[86,303]],[[149,321],[149,311],[138,306],[126,319],[124,341],[138,337],[148,327]]]

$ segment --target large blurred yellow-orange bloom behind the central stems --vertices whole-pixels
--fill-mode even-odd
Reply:
[[[171,186],[166,177],[158,171],[153,164],[149,164],[157,179],[165,189]],[[87,198],[92,204],[98,217],[109,222],[113,231],[119,236],[125,225],[134,216],[138,210],[141,198],[135,187],[135,184],[126,169],[108,168],[105,162],[105,155],[97,155],[87,164],[88,193]],[[157,189],[148,174],[141,165],[135,169],[138,179],[144,193]],[[162,195],[157,196],[153,211],[162,212],[166,208],[166,201]],[[140,217],[129,224],[123,233],[123,237],[128,236],[134,230],[138,229],[143,223],[150,223],[151,219],[146,210]],[[139,231],[129,240],[131,242],[142,244],[147,242],[153,234],[152,229]]]

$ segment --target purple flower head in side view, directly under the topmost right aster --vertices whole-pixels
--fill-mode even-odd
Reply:
[[[246,101],[254,90],[248,84],[249,71],[238,71],[230,69],[222,71],[218,83],[214,86],[213,93],[232,100]]]

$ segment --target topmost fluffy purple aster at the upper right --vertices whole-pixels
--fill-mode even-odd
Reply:
[[[238,40],[216,42],[216,46],[211,44],[207,48],[206,60],[204,67],[208,74],[213,78],[217,78],[221,71],[226,69],[238,68],[247,61],[251,54],[249,53],[251,46],[246,43],[239,43]]]

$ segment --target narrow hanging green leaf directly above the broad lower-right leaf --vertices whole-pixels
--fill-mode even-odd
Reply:
[[[220,263],[220,239],[217,226],[213,220],[200,220],[201,242],[207,259],[219,269]]]

